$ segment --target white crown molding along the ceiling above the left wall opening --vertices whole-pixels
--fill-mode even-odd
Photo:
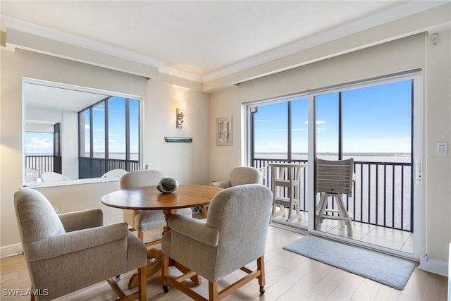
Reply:
[[[69,34],[67,32],[61,32],[59,30],[52,30],[48,27],[29,23],[17,18],[1,15],[1,20],[4,22],[7,28],[18,30],[21,32],[27,32],[39,37],[45,37],[47,39],[54,39],[59,42],[64,42],[74,46],[82,47],[92,51],[97,51],[103,54],[109,54],[111,56],[117,56],[121,59],[127,59],[129,61],[135,61],[137,63],[144,63],[149,66],[160,68],[164,65],[164,62],[146,56],[135,51],[116,47],[111,44],[99,42],[95,39],[89,39],[87,37],[80,37],[79,35]]]

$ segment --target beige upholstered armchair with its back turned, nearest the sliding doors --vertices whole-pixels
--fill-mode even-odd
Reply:
[[[220,300],[254,278],[258,278],[260,293],[264,293],[264,254],[272,202],[266,186],[239,185],[215,195],[206,220],[173,214],[168,219],[171,231],[161,242],[163,290],[167,293],[169,285],[194,300],[206,300],[183,283],[197,275],[209,281],[209,300]],[[245,267],[256,259],[256,271]],[[181,264],[191,271],[173,278],[169,276],[171,264]],[[218,292],[218,281],[238,269],[245,276]]]

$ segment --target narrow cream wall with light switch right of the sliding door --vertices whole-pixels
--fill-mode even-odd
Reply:
[[[424,254],[428,266],[438,259],[447,262],[451,242],[451,31],[438,32],[433,45],[426,37],[424,99]],[[437,142],[447,142],[446,156],[437,154]],[[432,263],[433,264],[433,263]]]

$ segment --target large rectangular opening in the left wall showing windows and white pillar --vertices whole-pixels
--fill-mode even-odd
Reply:
[[[32,79],[23,88],[23,185],[140,169],[140,97]]]

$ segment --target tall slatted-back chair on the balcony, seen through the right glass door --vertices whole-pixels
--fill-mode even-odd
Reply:
[[[342,195],[352,197],[353,167],[352,158],[338,161],[316,159],[316,193],[321,193],[316,207],[316,230],[321,228],[323,219],[341,220],[347,226],[347,236],[352,237],[352,216],[346,210]],[[328,207],[329,197],[332,199],[330,204],[333,206],[335,200],[338,209]]]

